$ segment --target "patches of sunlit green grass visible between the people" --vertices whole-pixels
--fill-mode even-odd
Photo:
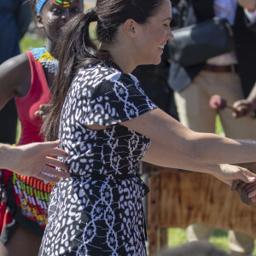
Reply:
[[[91,32],[94,35],[93,28],[94,27],[92,27]],[[26,49],[30,49],[33,47],[41,47],[44,44],[45,43],[43,38],[32,37],[31,35],[27,34],[26,37],[23,38],[20,42],[20,49],[22,52],[24,52]],[[224,136],[224,131],[223,131],[219,117],[217,117],[216,119],[216,132],[219,135]],[[20,137],[20,122],[18,124],[18,129],[17,129],[17,138],[19,137]],[[228,245],[226,230],[214,230],[210,241],[214,244],[214,246],[218,247],[219,249],[229,252],[229,245]],[[183,245],[186,242],[188,242],[188,238],[187,238],[185,229],[180,229],[180,228],[168,229],[168,247],[178,247]],[[256,255],[256,249],[254,249],[253,254]]]

